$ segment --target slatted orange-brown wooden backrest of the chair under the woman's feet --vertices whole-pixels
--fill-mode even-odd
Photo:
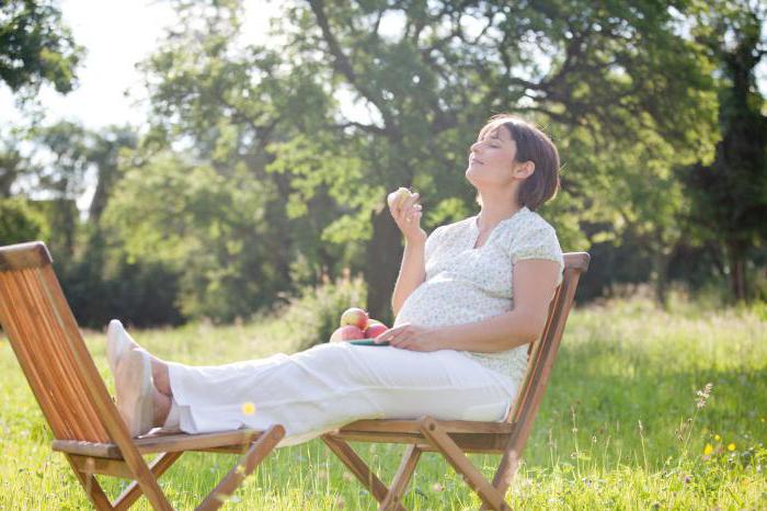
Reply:
[[[0,325],[58,440],[129,439],[41,241],[0,247]]]

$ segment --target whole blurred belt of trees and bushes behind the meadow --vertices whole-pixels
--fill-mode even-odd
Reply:
[[[83,326],[236,322],[294,299],[391,322],[386,194],[419,191],[427,232],[478,213],[468,150],[499,112],[560,149],[540,213],[592,254],[580,303],[767,299],[762,2],[291,1],[267,44],[239,43],[240,2],[170,4],[139,65],[142,129],[0,129],[0,245],[44,240]],[[20,109],[76,88],[84,52],[57,3],[0,7]]]

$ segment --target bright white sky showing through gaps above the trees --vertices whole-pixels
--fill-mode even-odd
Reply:
[[[278,9],[277,2],[247,0],[244,5],[244,42],[264,43],[267,20]],[[146,105],[140,103],[146,94],[135,64],[149,56],[163,29],[174,23],[170,2],[62,0],[61,12],[88,55],[78,70],[80,82],[75,91],[61,95],[47,84],[41,89],[46,118],[78,121],[92,129],[110,124],[140,125],[146,120]],[[396,31],[394,23],[391,30]],[[767,95],[767,59],[757,68],[757,83]],[[10,90],[0,84],[0,121],[18,124],[21,116]]]

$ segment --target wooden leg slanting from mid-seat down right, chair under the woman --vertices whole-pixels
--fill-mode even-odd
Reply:
[[[463,451],[453,441],[431,417],[421,420],[423,435],[445,456],[447,462],[458,474],[463,476],[466,482],[479,495],[482,501],[491,509],[511,511],[504,500],[503,493],[493,487],[484,475],[466,457]]]

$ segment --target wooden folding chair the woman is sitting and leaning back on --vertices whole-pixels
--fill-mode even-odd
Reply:
[[[408,488],[421,453],[438,452],[482,500],[481,510],[510,510],[505,501],[522,452],[530,434],[538,407],[557,356],[564,323],[573,305],[581,274],[588,270],[586,252],[564,254],[564,274],[549,305],[549,316],[538,341],[528,349],[527,373],[503,422],[443,421],[423,416],[415,420],[365,419],[322,435],[324,443],[352,470],[379,502],[379,510],[404,510],[402,495]],[[391,487],[369,469],[348,441],[407,444]],[[465,453],[503,454],[492,484]]]

